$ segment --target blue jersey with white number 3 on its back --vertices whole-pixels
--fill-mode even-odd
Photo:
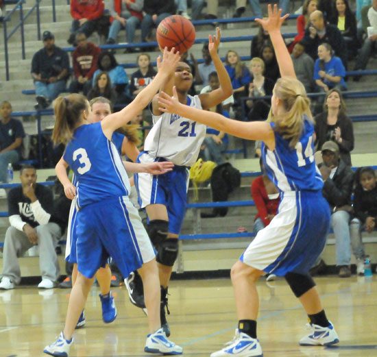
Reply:
[[[79,208],[130,192],[119,154],[121,142],[123,136],[118,133],[113,133],[112,140],[108,140],[101,123],[82,125],[75,130],[63,158],[75,173]]]

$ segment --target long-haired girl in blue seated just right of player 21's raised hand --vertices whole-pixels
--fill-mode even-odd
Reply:
[[[232,49],[226,53],[225,62],[226,71],[228,71],[230,81],[232,82],[233,95],[241,97],[245,92],[246,84],[252,80],[250,72],[241,61],[241,58],[239,58],[239,54]]]

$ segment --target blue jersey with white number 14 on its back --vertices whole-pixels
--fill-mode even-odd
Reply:
[[[272,129],[275,123],[270,123]],[[324,186],[321,173],[314,160],[314,125],[308,118],[294,148],[290,140],[275,132],[275,149],[269,150],[263,143],[262,158],[267,175],[282,192],[301,190],[321,190]]]

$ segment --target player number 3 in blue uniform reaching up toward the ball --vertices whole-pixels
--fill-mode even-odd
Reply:
[[[72,94],[56,99],[56,125],[52,137],[55,143],[66,144],[64,156],[56,165],[56,173],[63,186],[70,184],[69,180],[64,180],[66,167],[71,167],[77,177],[78,273],[69,297],[64,330],[55,343],[45,347],[47,354],[68,356],[75,325],[84,309],[95,273],[99,267],[106,265],[110,256],[124,276],[138,269],[143,278],[149,322],[145,352],[182,354],[182,347],[167,340],[161,328],[160,284],[155,251],[138,211],[128,197],[130,182],[112,141],[114,131],[147,106],[175,69],[179,54],[173,51],[165,49],[162,62],[160,58],[157,61],[158,74],[129,106],[110,114],[99,123],[86,125],[90,106],[84,96]],[[127,163],[127,169],[134,172],[163,173],[172,166],[171,163],[158,166]]]

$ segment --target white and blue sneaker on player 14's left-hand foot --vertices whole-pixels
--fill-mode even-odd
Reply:
[[[232,340],[232,344],[213,352],[210,357],[263,357],[262,347],[257,338],[236,329],[236,334]]]

